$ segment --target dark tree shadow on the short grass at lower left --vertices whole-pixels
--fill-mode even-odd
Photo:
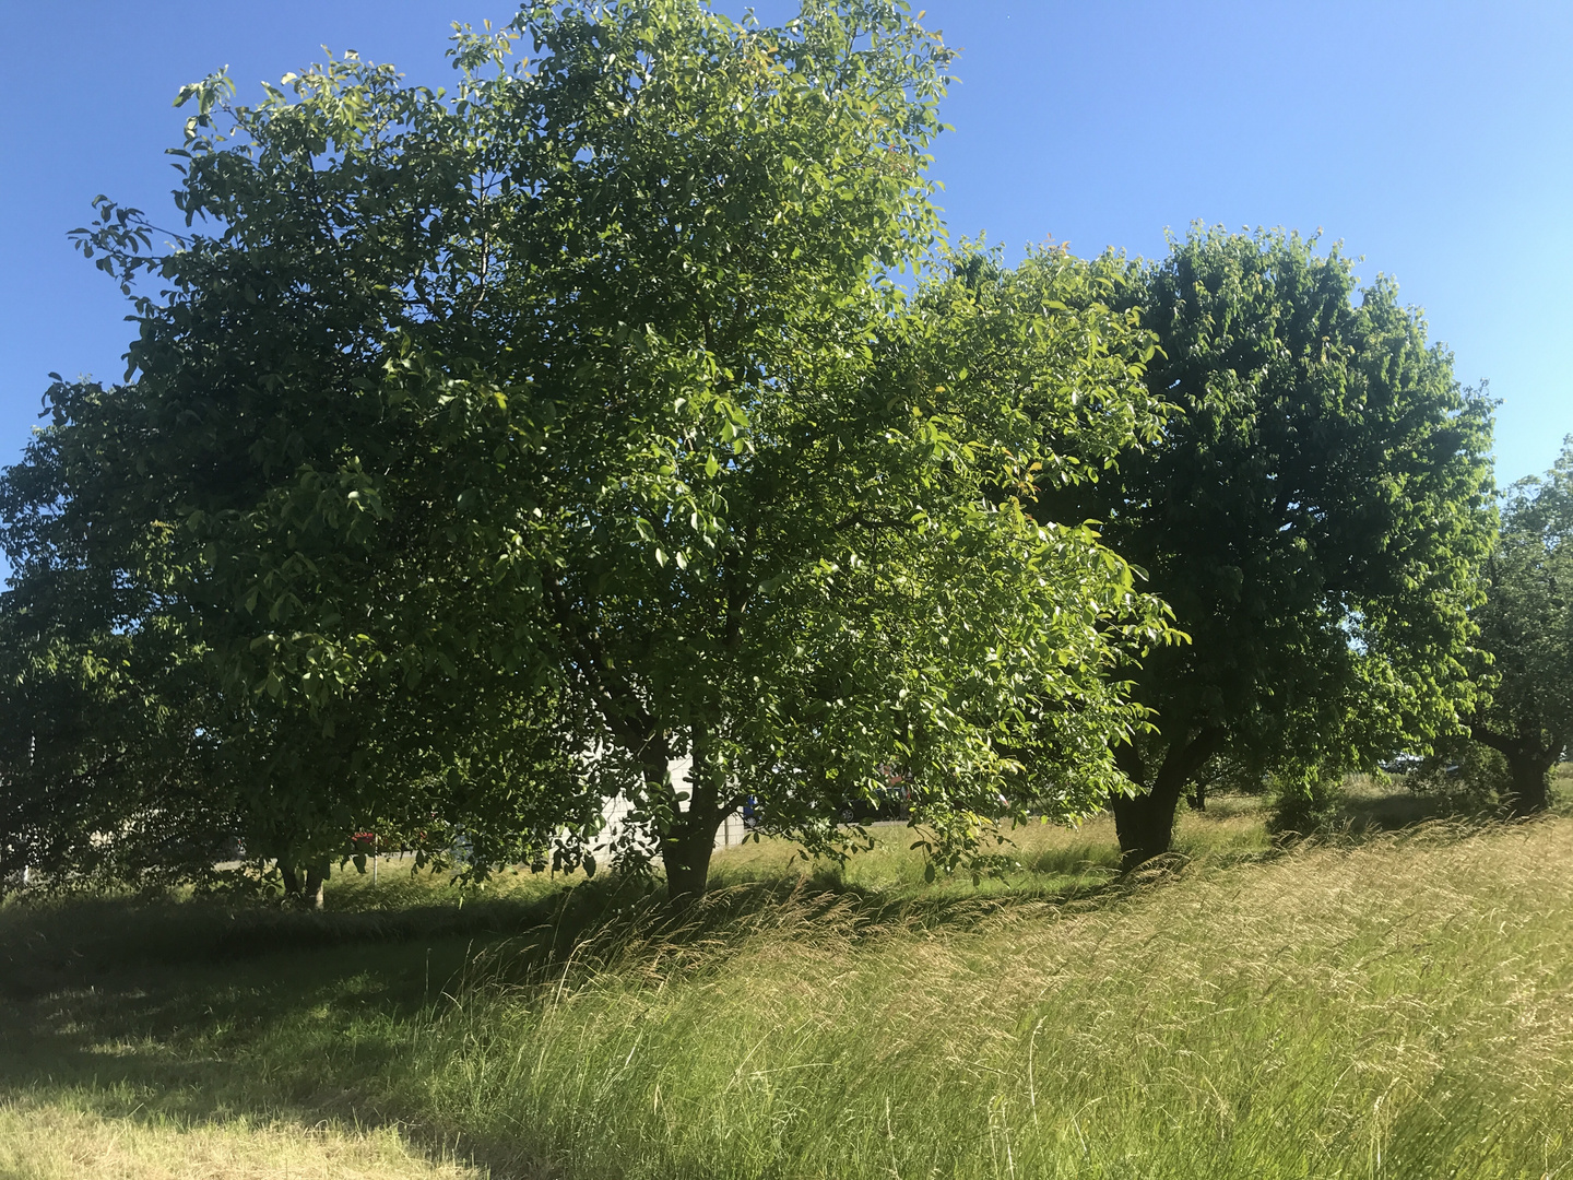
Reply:
[[[160,1123],[393,1127],[433,1160],[516,1166],[518,1144],[467,1142],[422,1101],[442,1065],[431,1034],[488,947],[569,958],[617,900],[580,886],[357,914],[13,903],[0,909],[0,1100]]]

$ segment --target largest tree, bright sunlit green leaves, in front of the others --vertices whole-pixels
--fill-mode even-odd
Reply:
[[[1109,672],[1166,631],[1021,502],[1153,400],[1068,263],[1073,301],[989,307],[967,256],[890,280],[936,242],[944,44],[890,0],[780,28],[651,0],[533,5],[453,58],[453,94],[354,57],[255,107],[189,87],[192,233],[156,250],[102,201],[82,234],[160,289],[134,381],[52,392],[30,510],[167,581],[135,626],[178,620],[278,768],[244,809],[318,856],[412,761],[466,826],[510,788],[582,851],[621,791],[617,853],[691,897],[744,795],[829,848],[898,771],[949,857],[1002,798],[1096,806],[1140,724]]]

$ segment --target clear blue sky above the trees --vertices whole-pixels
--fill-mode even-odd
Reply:
[[[448,22],[511,13],[0,0],[0,463],[50,370],[123,371],[124,302],[66,230],[98,192],[173,220],[181,83],[228,63],[250,101],[327,44],[445,85]],[[1501,481],[1573,433],[1573,3],[931,0],[925,24],[964,49],[934,162],[953,234],[1151,256],[1197,219],[1321,227],[1398,278],[1460,379],[1490,379]]]

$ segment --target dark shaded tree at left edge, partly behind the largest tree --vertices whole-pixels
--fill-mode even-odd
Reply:
[[[483,848],[543,846],[558,815],[521,815],[505,791],[464,798],[451,782],[483,766],[507,785],[524,766],[532,798],[546,796],[541,771],[563,758],[530,714],[470,730],[455,765],[411,739],[414,725],[453,721],[440,702],[384,691],[322,725],[223,675],[206,639],[223,618],[203,599],[200,566],[182,565],[179,530],[137,521],[146,467],[120,437],[138,426],[135,387],[123,393],[57,384],[53,425],[0,480],[14,565],[0,599],[8,856],[80,886],[201,881],[236,856],[321,862],[357,829],[442,857],[461,818]],[[488,703],[477,692],[464,719]]]

